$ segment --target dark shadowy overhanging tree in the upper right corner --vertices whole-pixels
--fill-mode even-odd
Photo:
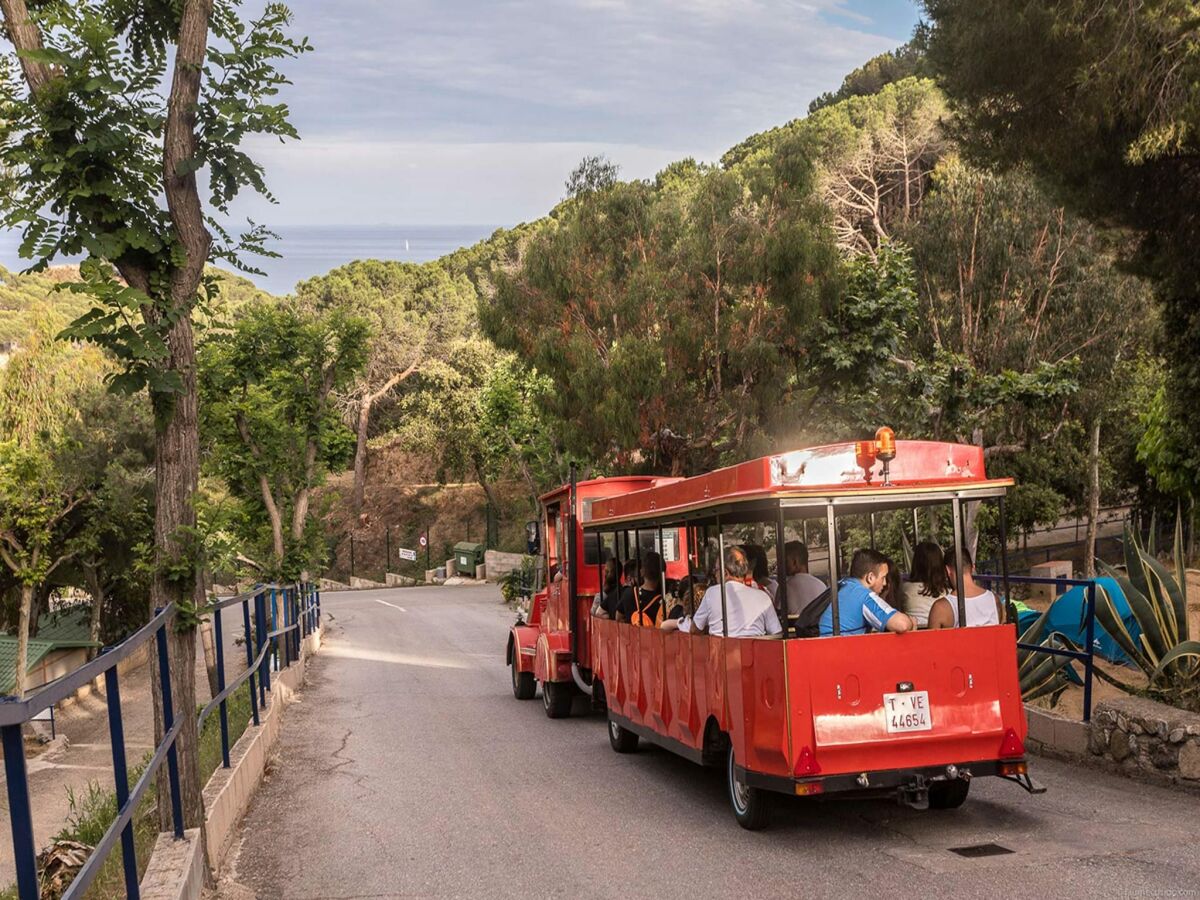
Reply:
[[[1162,299],[1170,396],[1200,430],[1200,32],[1190,0],[925,0],[930,59],[978,158],[1028,164],[1099,226]],[[1020,55],[1020,65],[1014,56]],[[1183,460],[1200,484],[1200,454]]]

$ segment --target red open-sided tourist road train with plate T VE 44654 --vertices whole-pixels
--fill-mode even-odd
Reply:
[[[532,698],[540,684],[551,718],[588,696],[607,710],[618,752],[646,739],[724,767],[734,816],[748,828],[764,824],[775,792],[884,792],[918,808],[952,808],[984,775],[1039,791],[1027,774],[1013,624],[842,636],[838,622],[847,522],[874,544],[880,514],[911,510],[916,541],[918,510],[948,508],[962,598],[965,508],[998,505],[1003,560],[1012,484],[986,476],[980,448],[895,442],[881,428],[874,442],[778,454],[689,479],[559,488],[542,498],[550,583],[534,595],[529,622],[509,636],[514,694]],[[590,614],[610,554],[623,560],[656,550],[666,583],[680,590],[708,562],[724,584],[726,541],[772,534],[782,560],[788,532],[808,533],[814,520],[830,548],[833,636],[800,637],[786,617],[779,640]],[[961,601],[958,620],[966,620]]]

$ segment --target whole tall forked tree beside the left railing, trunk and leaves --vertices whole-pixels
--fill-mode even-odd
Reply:
[[[114,386],[149,389],[156,421],[156,558],[150,606],[175,604],[170,632],[174,707],[187,827],[203,824],[197,758],[196,643],[187,625],[204,594],[194,559],[199,472],[192,313],[214,258],[238,263],[266,233],[224,232],[205,212],[206,170],[216,215],[245,187],[266,193],[241,144],[251,134],[293,137],[276,102],[275,64],[306,49],[271,4],[256,19],[240,0],[0,0],[19,68],[0,72],[0,166],[11,190],[4,223],[24,229],[34,268],[84,254],[95,308],[71,334],[122,364]],[[210,37],[217,46],[210,48]],[[217,232],[214,242],[210,228]],[[156,672],[156,670],[155,670]],[[155,691],[157,698],[158,691]],[[162,733],[161,709],[156,709]],[[166,797],[166,782],[160,782]],[[160,804],[169,822],[169,804]]]

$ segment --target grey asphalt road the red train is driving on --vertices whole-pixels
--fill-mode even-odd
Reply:
[[[749,833],[716,770],[514,700],[496,588],[323,610],[232,864],[258,896],[1200,896],[1195,796],[1036,760],[1039,797],[982,779],[943,812],[786,798]],[[950,852],[982,844],[1012,852]]]

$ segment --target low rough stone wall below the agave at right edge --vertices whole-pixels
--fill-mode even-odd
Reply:
[[[1087,749],[1129,774],[1200,787],[1200,714],[1142,697],[1103,701]]]

